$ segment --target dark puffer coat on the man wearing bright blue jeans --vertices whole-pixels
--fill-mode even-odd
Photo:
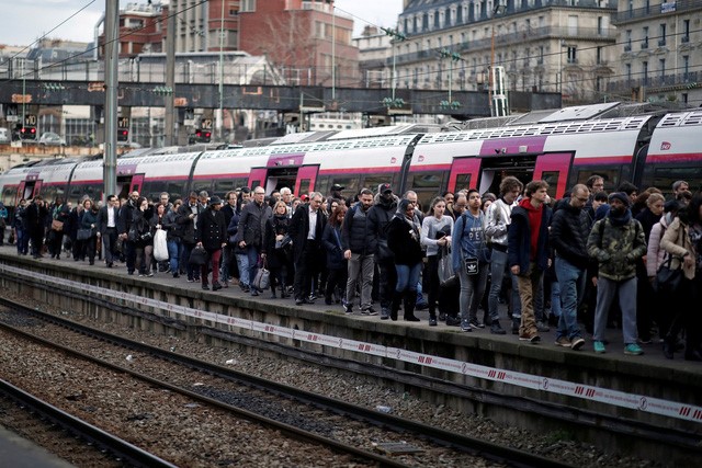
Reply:
[[[568,204],[553,214],[551,246],[556,254],[579,269],[587,269],[590,217],[582,208]]]

